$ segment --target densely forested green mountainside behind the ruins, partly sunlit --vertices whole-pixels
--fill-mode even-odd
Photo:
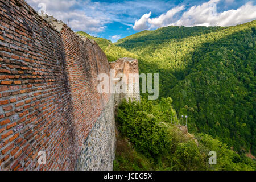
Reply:
[[[256,20],[232,27],[168,26],[117,43],[77,34],[96,40],[109,61],[133,57],[140,73],[159,73],[160,97],[154,105],[170,97],[176,115],[188,115],[189,133],[214,138],[240,156],[256,155]]]

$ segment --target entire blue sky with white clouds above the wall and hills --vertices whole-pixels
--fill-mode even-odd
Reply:
[[[27,0],[36,11],[63,20],[73,31],[116,42],[142,30],[177,26],[233,26],[256,19],[256,1]]]

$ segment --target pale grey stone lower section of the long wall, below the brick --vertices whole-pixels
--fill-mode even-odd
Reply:
[[[111,139],[111,140],[110,140]],[[85,142],[77,170],[112,170],[115,156],[114,95],[97,119]]]

